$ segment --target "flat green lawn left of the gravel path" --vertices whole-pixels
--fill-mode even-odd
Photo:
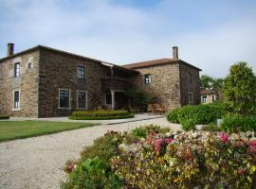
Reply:
[[[95,126],[90,123],[68,123],[47,121],[0,121],[0,141],[22,139],[32,136],[56,133],[69,129]]]

